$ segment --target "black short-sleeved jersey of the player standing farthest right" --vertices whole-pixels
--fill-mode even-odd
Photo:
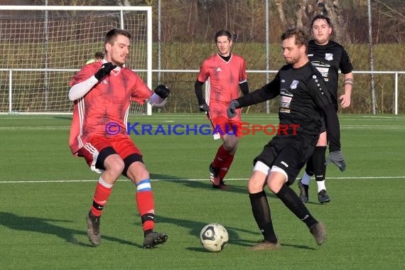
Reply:
[[[315,41],[308,42],[308,58],[322,74],[323,79],[330,89],[330,96],[338,108],[338,80],[339,70],[343,74],[352,72],[353,67],[345,48],[335,41],[326,45],[318,45]]]

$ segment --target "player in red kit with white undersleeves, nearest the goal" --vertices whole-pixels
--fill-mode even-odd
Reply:
[[[136,185],[136,205],[144,230],[144,248],[166,242],[154,232],[154,201],[151,180],[142,154],[126,134],[131,101],[162,107],[170,90],[159,85],[152,92],[135,72],[124,67],[131,34],[112,29],[105,37],[102,61],[85,65],[72,77],[69,99],[75,102],[70,128],[70,149],[82,156],[92,171],[101,173],[92,207],[86,216],[87,237],[95,246],[101,241],[100,217],[112,187],[120,175]]]

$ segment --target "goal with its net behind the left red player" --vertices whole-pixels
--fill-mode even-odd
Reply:
[[[0,6],[0,113],[71,113],[70,79],[112,28],[131,33],[126,68],[151,88],[151,7]]]

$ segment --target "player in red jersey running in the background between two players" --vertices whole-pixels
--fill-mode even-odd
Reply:
[[[195,95],[201,112],[207,112],[215,130],[220,131],[223,144],[218,148],[214,161],[210,163],[210,180],[212,188],[226,190],[224,178],[237,151],[239,137],[242,136],[240,109],[237,116],[229,119],[227,107],[232,99],[239,97],[239,88],[243,95],[249,93],[246,64],[239,55],[231,53],[232,36],[222,30],[215,34],[218,52],[207,58],[201,65],[195,82]],[[205,98],[202,85],[207,82]],[[207,100],[206,100],[207,99]]]

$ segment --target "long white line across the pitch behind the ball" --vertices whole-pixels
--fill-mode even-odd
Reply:
[[[298,178],[297,178],[298,179]],[[360,176],[360,177],[328,177],[330,179],[337,180],[377,180],[377,179],[405,179],[404,176]],[[193,178],[157,178],[151,179],[152,181],[209,181],[207,178],[193,179]],[[247,178],[228,178],[227,180],[248,180]],[[0,181],[0,184],[22,184],[22,183],[83,183],[83,182],[97,182],[98,180],[6,180]],[[119,179],[118,181],[128,182],[129,179]]]

